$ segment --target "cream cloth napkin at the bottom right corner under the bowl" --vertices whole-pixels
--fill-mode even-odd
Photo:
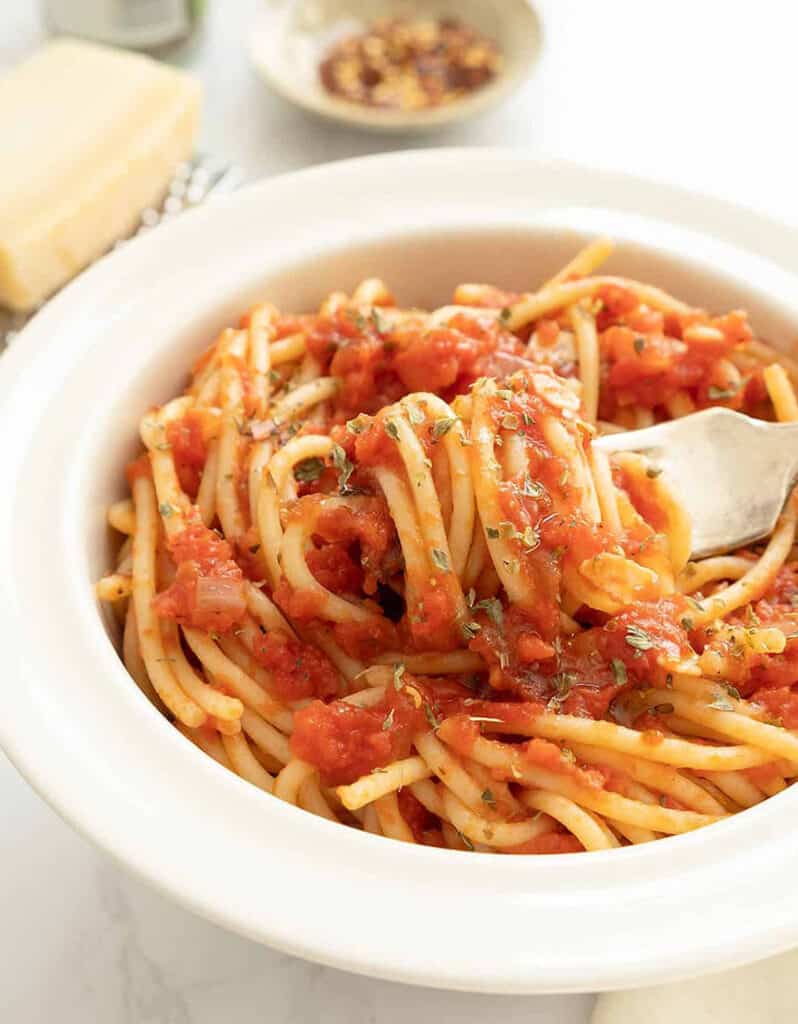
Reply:
[[[591,1024],[798,1024],[798,949],[695,981],[605,992]]]

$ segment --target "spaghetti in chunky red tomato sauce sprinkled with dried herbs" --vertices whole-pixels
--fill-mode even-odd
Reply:
[[[596,432],[723,404],[798,418],[742,312],[599,275],[379,281],[260,304],[141,421],[99,582],[125,664],[272,797],[408,843],[558,853],[717,821],[798,776],[796,506],[689,560],[690,524]]]

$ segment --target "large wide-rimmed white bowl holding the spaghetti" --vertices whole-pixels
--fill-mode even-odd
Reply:
[[[220,199],[112,254],[25,329],[0,361],[0,740],[67,820],[220,924],[406,982],[626,987],[798,943],[798,790],[602,853],[385,841],[287,806],[184,740],[128,678],[92,595],[142,410],[256,296],[308,308],[370,273],[421,304],[463,280],[529,287],[599,230],[620,242],[616,270],[746,306],[773,341],[798,334],[795,240],[781,225],[485,150],[333,164]]]

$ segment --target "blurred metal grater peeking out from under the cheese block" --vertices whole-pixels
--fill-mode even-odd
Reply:
[[[241,184],[243,177],[240,168],[204,154],[198,155],[184,164],[179,164],[175,168],[174,176],[161,205],[158,208],[149,207],[146,210],[142,210],[138,227],[127,239],[120,239],[113,248],[118,249],[131,238],[151,231],[163,221],[169,220],[183,210],[198,206],[211,195],[217,196],[221,193],[233,191]],[[0,308],[0,353],[11,344],[14,337],[35,313],[36,310],[28,313],[15,313]]]

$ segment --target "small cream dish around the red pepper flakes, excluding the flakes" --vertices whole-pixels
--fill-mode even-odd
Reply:
[[[462,99],[426,111],[389,111],[331,95],[319,78],[330,45],[388,15],[455,17],[499,44],[496,78]],[[541,24],[529,0],[268,0],[249,38],[263,80],[312,114],[378,132],[429,131],[481,114],[516,89],[540,55]]]

